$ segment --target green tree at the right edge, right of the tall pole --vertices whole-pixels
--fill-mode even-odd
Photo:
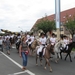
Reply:
[[[75,34],[75,16],[70,17],[70,16],[66,16],[67,19],[65,21],[65,28],[70,32],[71,36],[73,37],[73,35]]]

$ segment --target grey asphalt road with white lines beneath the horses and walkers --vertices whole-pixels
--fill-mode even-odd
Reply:
[[[44,69],[44,60],[43,66],[36,66],[35,56],[28,56],[28,66],[26,71],[22,71],[22,58],[19,57],[17,50],[15,48],[11,49],[11,54],[7,55],[4,49],[4,52],[0,51],[0,75],[75,75],[75,59],[74,54],[72,53],[73,62],[59,60],[59,63],[54,62],[54,58],[51,63],[53,72],[49,72]],[[64,54],[65,56],[65,54]],[[63,56],[63,58],[64,58]]]

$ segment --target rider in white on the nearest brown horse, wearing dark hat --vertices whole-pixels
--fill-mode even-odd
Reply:
[[[37,55],[40,55],[42,57],[42,53],[43,53],[43,56],[45,54],[45,49],[44,49],[44,46],[46,45],[46,37],[45,37],[45,34],[42,32],[41,33],[41,37],[39,39],[39,48],[37,50]],[[42,51],[43,50],[43,51]]]

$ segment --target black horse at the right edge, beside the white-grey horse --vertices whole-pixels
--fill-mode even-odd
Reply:
[[[72,62],[70,53],[71,53],[71,51],[72,51],[73,48],[75,48],[75,43],[74,42],[71,42],[71,43],[68,44],[68,50],[65,50],[65,48],[63,48],[63,50],[60,51],[60,57],[61,57],[61,59],[62,59],[62,53],[67,53],[67,55],[65,57],[65,60],[69,56],[70,62]]]

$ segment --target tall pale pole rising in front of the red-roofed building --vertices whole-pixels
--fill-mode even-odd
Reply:
[[[60,0],[55,0],[55,20],[57,28],[57,39],[60,39]]]

